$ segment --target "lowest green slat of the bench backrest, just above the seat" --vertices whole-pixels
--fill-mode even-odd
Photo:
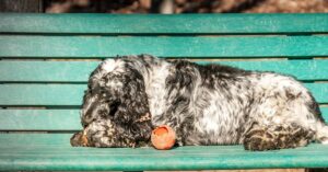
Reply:
[[[328,107],[321,106],[328,121]],[[0,110],[0,130],[61,130],[82,129],[80,110]]]

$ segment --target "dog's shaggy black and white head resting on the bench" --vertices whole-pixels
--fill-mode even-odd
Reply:
[[[142,76],[130,68],[104,72],[98,67],[89,79],[81,119],[84,128],[106,119],[117,135],[147,140],[152,126]]]

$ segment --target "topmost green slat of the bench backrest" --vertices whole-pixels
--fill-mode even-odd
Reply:
[[[328,14],[1,14],[0,32],[51,34],[327,33]]]

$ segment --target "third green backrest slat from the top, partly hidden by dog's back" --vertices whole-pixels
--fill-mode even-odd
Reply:
[[[197,61],[216,64],[218,61]],[[99,61],[0,61],[1,82],[86,82]],[[298,80],[328,80],[328,59],[220,61],[246,70],[293,74]]]

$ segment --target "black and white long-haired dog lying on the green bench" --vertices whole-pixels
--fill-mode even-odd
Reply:
[[[141,147],[171,126],[178,146],[270,150],[328,144],[313,95],[295,79],[150,55],[103,61],[90,76],[72,146]]]

